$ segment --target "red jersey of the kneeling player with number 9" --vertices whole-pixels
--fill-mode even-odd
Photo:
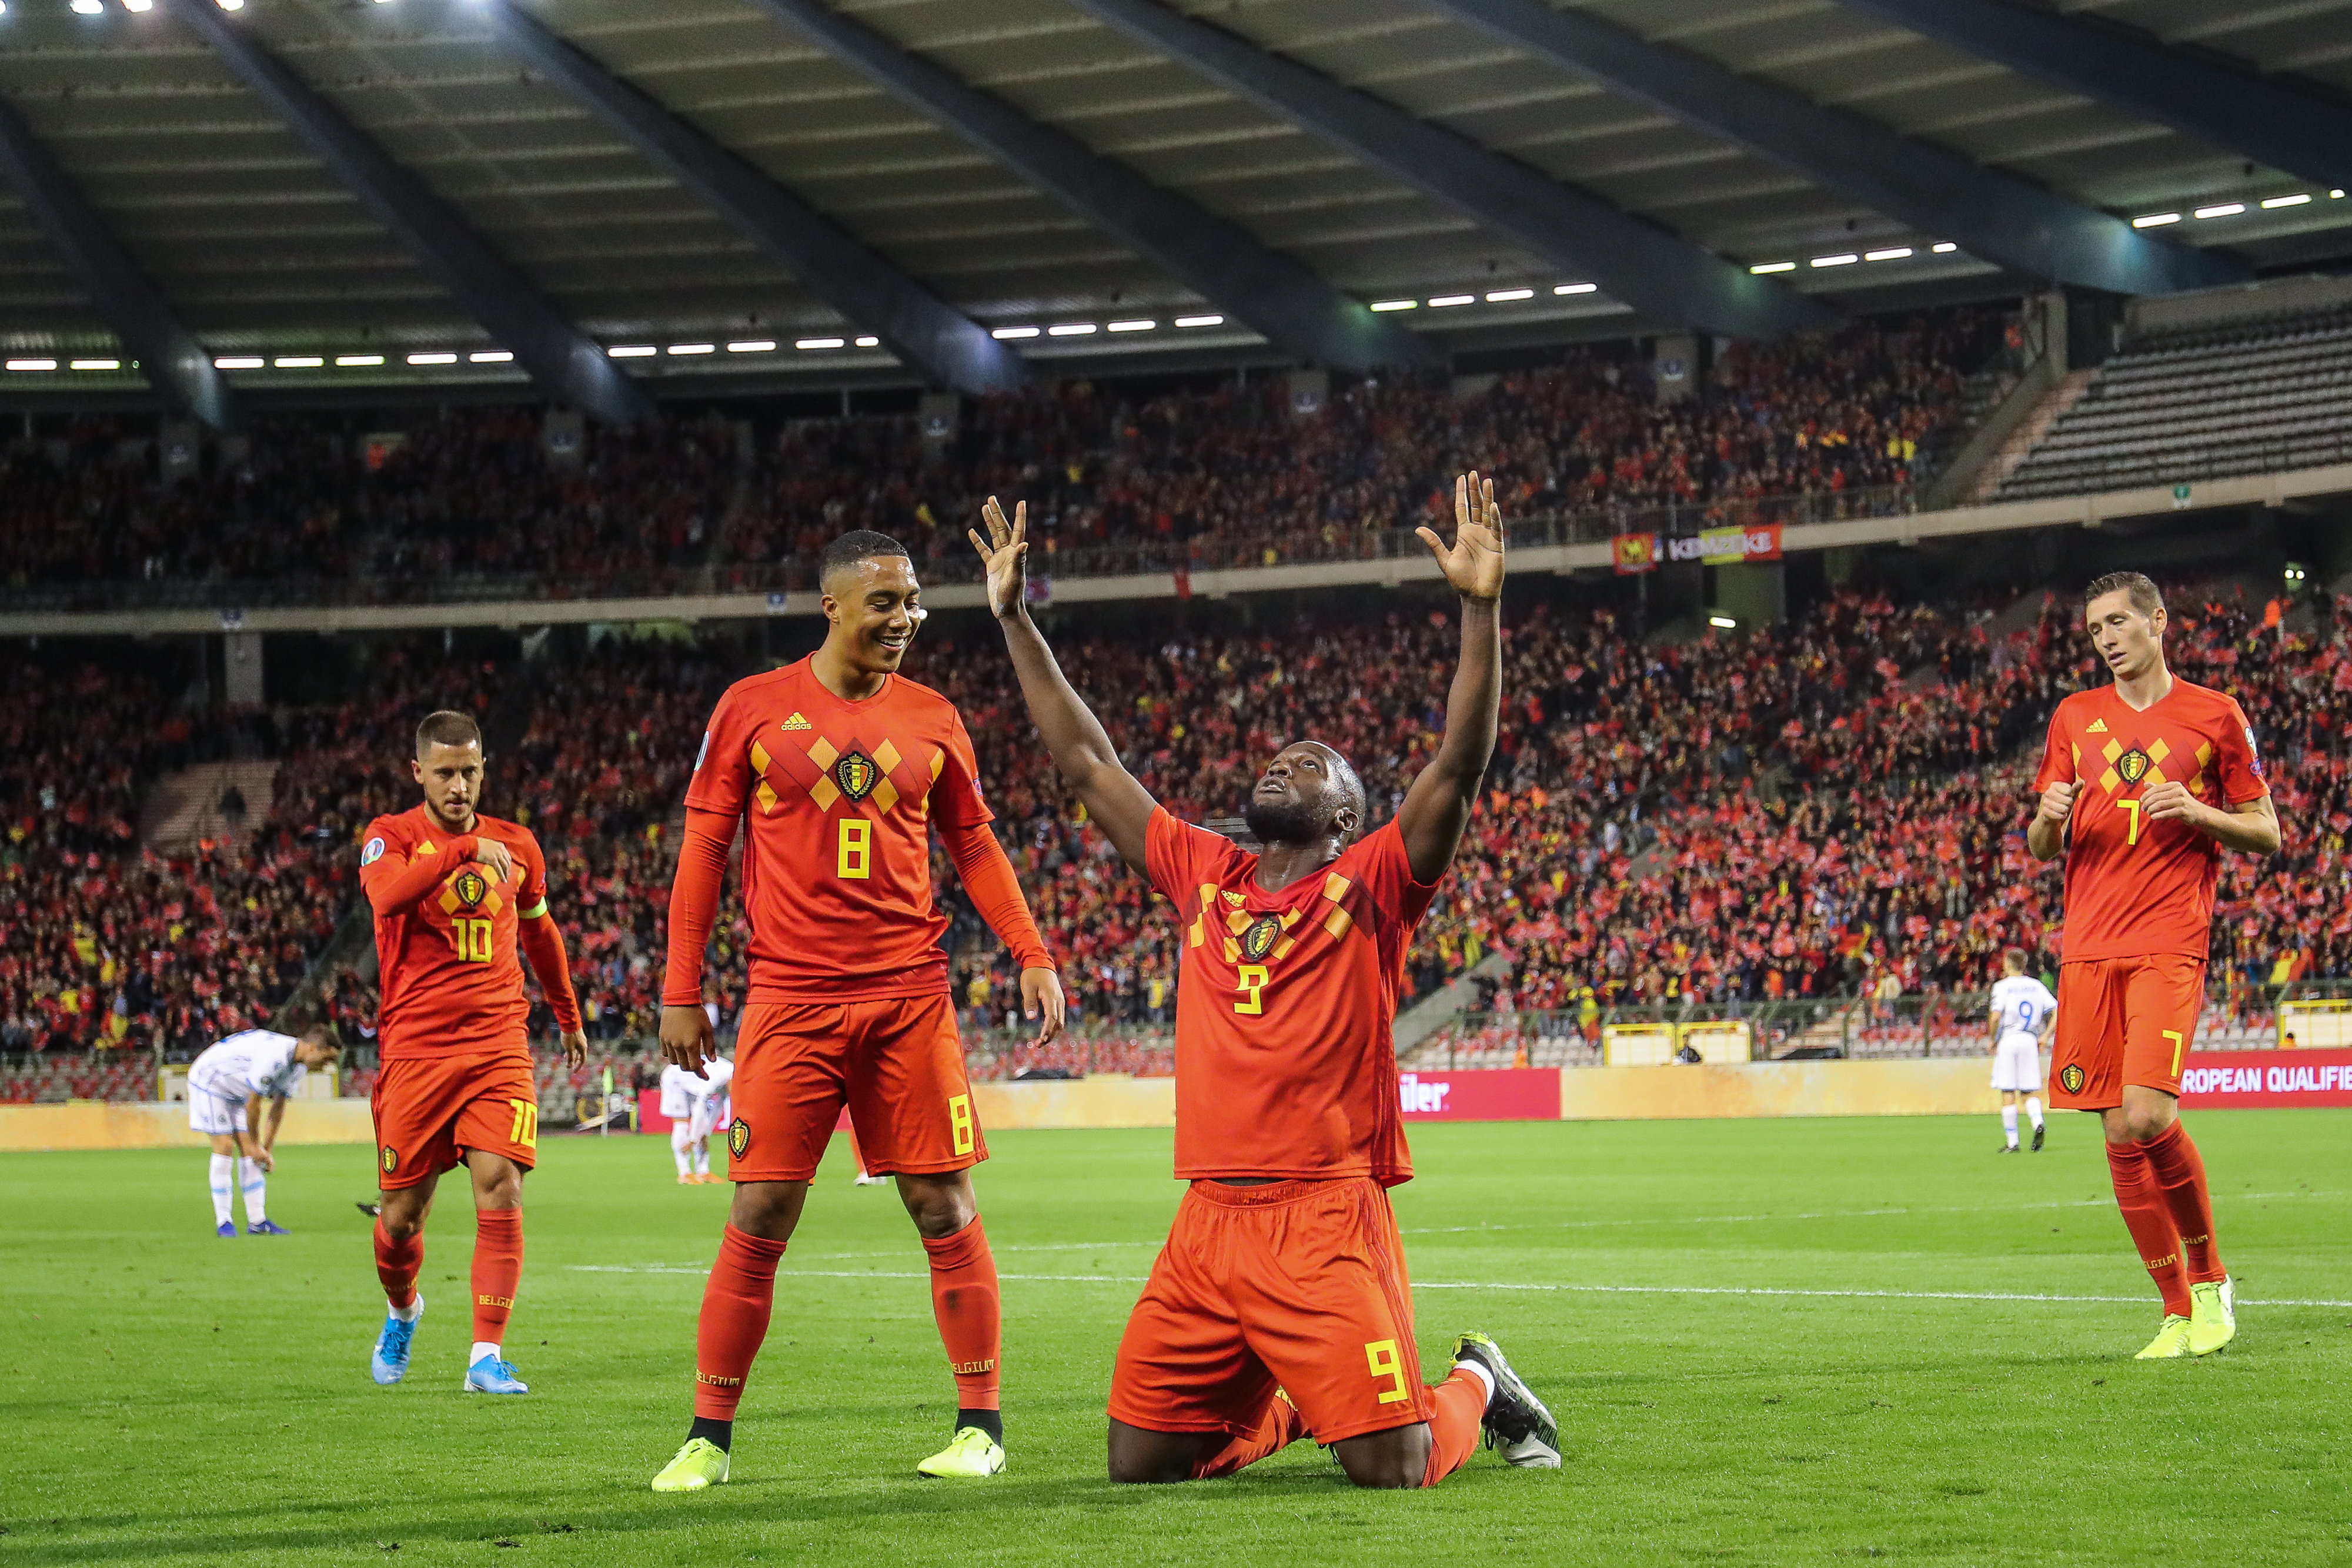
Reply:
[[[1397,987],[1435,882],[1395,823],[1279,893],[1232,839],[1152,811],[1150,882],[1183,922],[1176,1175],[1414,1178]]]

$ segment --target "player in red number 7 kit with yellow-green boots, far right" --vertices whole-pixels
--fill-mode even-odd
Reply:
[[[2164,665],[2164,595],[2138,571],[2084,592],[2114,677],[2051,715],[2025,830],[2065,856],[2065,936],[2051,1105],[2093,1110],[2124,1225],[2164,1298],[2143,1361],[2201,1356],[2237,1335],[2204,1159],[2180,1124],[2180,1065],[2204,1011],[2220,851],[2270,856],[2279,813],[2237,701]]]

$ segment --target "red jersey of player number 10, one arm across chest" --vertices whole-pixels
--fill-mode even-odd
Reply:
[[[520,884],[501,884],[480,860],[449,853],[452,835],[423,806],[367,825],[360,882],[372,886],[416,860],[447,858],[449,872],[400,914],[376,917],[383,1060],[419,1056],[529,1056],[532,999],[522,990],[524,914],[546,912],[548,858],[529,827],[475,816],[477,837],[506,844]]]

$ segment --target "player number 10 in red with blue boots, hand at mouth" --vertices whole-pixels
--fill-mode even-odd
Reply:
[[[555,1013],[564,1058],[588,1060],[564,931],[548,914],[548,860],[529,827],[477,811],[482,729],[463,712],[416,726],[409,773],[421,806],[379,816],[360,851],[376,912],[383,1072],[376,1117],[376,1276],[390,1307],[369,1373],[400,1382],[426,1302],[416,1293],[426,1215],[442,1171],[473,1175],[473,1352],[468,1394],[527,1394],[506,1359],[522,1284],[522,1175],[539,1161],[532,999],[522,959]]]

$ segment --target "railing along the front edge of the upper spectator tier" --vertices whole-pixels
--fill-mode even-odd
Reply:
[[[1795,527],[1809,522],[1846,522],[1856,517],[1896,517],[1917,510],[1910,484],[1886,484],[1849,491],[1809,491],[1799,496],[1757,496],[1710,505],[1583,508],[1536,512],[1510,524],[1510,545],[1531,550],[1545,545],[1604,543],[1618,534],[1661,534],[1684,538],[1729,527]],[[908,541],[920,545],[922,541]],[[964,543],[962,529],[948,529],[946,548],[922,562],[931,583],[978,583],[978,557]],[[1411,527],[1348,529],[1312,527],[1275,534],[1240,534],[1183,541],[1136,541],[1110,545],[1047,548],[1030,557],[1033,578],[1077,581],[1117,576],[1169,576],[1202,571],[1247,571],[1261,567],[1423,559],[1423,545]],[[720,567],[663,567],[607,574],[388,574],[341,578],[195,578],[195,581],[73,581],[73,583],[0,583],[0,611],[96,614],[139,609],[202,609],[242,614],[278,607],[416,607],[416,604],[529,604],[595,599],[663,599],[696,595],[804,595],[816,588],[816,557],[793,555],[779,562],[741,562]]]

